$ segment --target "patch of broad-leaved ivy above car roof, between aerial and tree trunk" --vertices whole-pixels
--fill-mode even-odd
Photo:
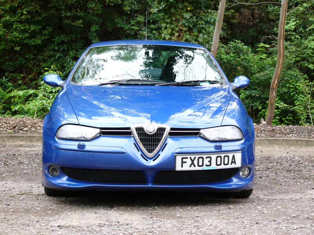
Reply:
[[[161,34],[157,39],[188,41],[208,46],[214,34],[217,12],[210,1],[163,1],[155,2]]]

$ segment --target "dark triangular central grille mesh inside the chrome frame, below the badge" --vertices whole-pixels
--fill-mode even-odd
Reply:
[[[144,149],[151,154],[157,149],[165,134],[166,128],[157,128],[157,131],[152,135],[147,134],[143,127],[137,127],[135,131]]]

